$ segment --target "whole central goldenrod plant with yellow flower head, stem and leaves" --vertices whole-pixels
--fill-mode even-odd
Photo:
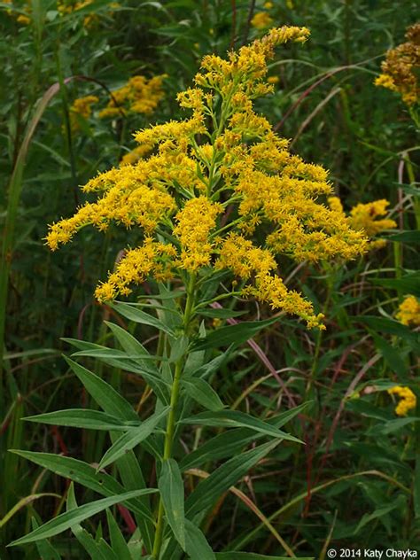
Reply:
[[[97,201],[51,226],[46,240],[52,250],[89,224],[105,230],[115,222],[131,230],[136,245],[128,246],[105,282],[97,286],[96,297],[128,319],[158,329],[157,354],[149,354],[139,340],[113,323],[107,324],[121,350],[71,342],[79,349],[77,355],[97,357],[142,376],[154,393],[155,411],[141,420],[104,379],[68,360],[103,411],[72,409],[31,419],[105,430],[112,446],[96,466],[58,455],[19,454],[105,498],[77,506],[71,486],[66,513],[14,545],[35,541],[38,548],[51,547],[45,539],[70,528],[91,557],[111,558],[113,553],[118,558],[140,558],[143,550],[160,560],[181,558],[184,553],[197,560],[214,559],[217,553],[199,528],[214,502],[282,440],[299,445],[280,427],[300,407],[262,421],[226,409],[208,382],[225,358],[206,360],[208,349],[229,345],[231,349],[278,317],[213,331],[206,331],[200,320],[232,316],[229,309],[215,309],[212,304],[241,295],[298,315],[309,328],[323,329],[323,316],[315,314],[311,302],[284,285],[276,256],[312,262],[346,260],[366,249],[364,234],[352,229],[346,215],[318,200],[331,194],[323,167],[292,155],[288,142],[253,111],[253,100],[272,90],[265,76],[276,45],[304,42],[308,35],[305,27],[274,28],[261,40],[230,52],[227,59],[206,56],[195,87],[178,96],[191,116],[138,132],[136,141],[147,145],[151,155],[89,181],[83,189],[97,192]],[[146,279],[155,287],[154,301],[160,301],[154,305],[156,315],[144,310],[150,304],[142,309],[145,296],[132,303],[113,302]],[[196,405],[206,411],[193,415]],[[185,424],[230,430],[191,454],[181,454],[177,442]],[[268,442],[244,451],[263,438]],[[156,488],[145,485],[133,451],[140,444],[156,464]],[[226,461],[185,499],[185,473],[221,459]],[[113,463],[117,471],[112,475],[107,467]],[[154,505],[149,494],[156,494]],[[109,514],[110,546],[101,538],[95,540],[80,523],[117,502],[133,512],[137,529],[127,543]]]

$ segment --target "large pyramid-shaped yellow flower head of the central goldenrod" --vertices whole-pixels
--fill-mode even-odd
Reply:
[[[276,255],[354,259],[367,239],[342,211],[317,201],[332,191],[323,167],[292,155],[288,141],[253,111],[253,100],[272,90],[265,77],[276,45],[303,42],[308,33],[305,27],[275,28],[227,59],[206,56],[196,87],[178,96],[191,117],[136,133],[152,155],[97,175],[84,191],[102,197],[51,226],[51,249],[88,223],[143,230],[144,243],[99,286],[98,299],[128,293],[128,284],[146,276],[184,279],[185,272],[199,277],[228,269],[242,279],[244,295],[322,328],[322,315],[284,285]],[[232,291],[235,285],[232,277]]]

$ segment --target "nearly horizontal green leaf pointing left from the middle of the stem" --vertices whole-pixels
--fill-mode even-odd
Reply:
[[[66,410],[48,412],[47,414],[27,416],[26,418],[22,418],[22,420],[57,426],[85,428],[88,430],[115,430],[118,432],[126,432],[134,427],[132,424],[122,423],[121,420],[115,416],[111,416],[100,410],[89,410],[89,408],[68,408]],[[137,421],[136,424],[140,424],[140,422]]]

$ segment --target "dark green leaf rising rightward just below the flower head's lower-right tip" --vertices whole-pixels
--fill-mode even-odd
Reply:
[[[277,321],[278,317],[271,317],[265,321],[244,321],[244,323],[222,327],[209,332],[206,338],[199,338],[193,348],[194,350],[206,350],[207,348],[218,348],[229,344],[243,344],[249,338],[253,338],[261,329],[265,329],[265,327]]]

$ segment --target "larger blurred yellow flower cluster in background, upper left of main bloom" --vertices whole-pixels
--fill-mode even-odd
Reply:
[[[119,89],[113,90],[108,105],[99,113],[101,119],[119,117],[121,114],[151,114],[164,96],[162,83],[165,75],[150,80],[144,76],[133,76]]]

